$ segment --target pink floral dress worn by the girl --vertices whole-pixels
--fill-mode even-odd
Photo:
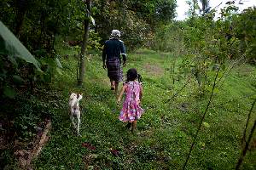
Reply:
[[[125,83],[125,101],[120,111],[119,120],[122,122],[133,122],[139,119],[143,114],[140,106],[141,84],[137,81]]]

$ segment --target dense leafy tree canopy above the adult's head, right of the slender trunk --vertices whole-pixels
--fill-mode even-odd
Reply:
[[[175,16],[176,2],[168,1],[102,1],[93,2],[96,7],[96,31],[102,40],[111,30],[119,29],[128,50],[148,45],[154,30]],[[119,17],[119,16],[123,17]],[[106,29],[107,28],[107,29]]]

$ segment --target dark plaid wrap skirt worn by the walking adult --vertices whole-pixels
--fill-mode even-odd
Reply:
[[[111,81],[122,82],[123,71],[119,58],[107,60],[108,77]]]

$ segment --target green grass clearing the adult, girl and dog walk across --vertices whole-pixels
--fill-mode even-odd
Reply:
[[[63,54],[74,53],[65,49],[61,50]],[[67,107],[55,109],[51,113],[50,140],[34,161],[35,169],[181,169],[209,96],[198,97],[195,83],[191,82],[166,103],[186,82],[183,77],[172,84],[168,69],[173,60],[176,65],[181,63],[181,59],[171,54],[157,54],[148,49],[129,54],[124,72],[134,67],[143,76],[145,109],[137,123],[137,132],[131,133],[119,122],[120,108],[109,89],[101,56],[91,55],[86,59],[83,88],[76,87],[77,61],[73,57],[61,59],[63,74],[56,75],[53,88],[61,96],[60,103],[68,103],[69,92],[84,94],[80,103],[83,106],[82,137],[77,137],[71,126]],[[253,100],[251,97],[220,104],[255,94],[255,71],[253,66],[241,65],[224,78],[213,96],[212,105],[216,106],[209,109],[204,121],[209,126],[201,128],[187,169],[234,169]],[[187,111],[181,110],[183,103],[188,105]],[[255,108],[253,111],[255,113]],[[255,118],[253,114],[251,120]],[[96,150],[87,149],[82,145],[84,142],[92,144]],[[114,156],[110,150],[119,150],[119,156]],[[242,169],[255,169],[255,160],[255,151],[248,151]]]

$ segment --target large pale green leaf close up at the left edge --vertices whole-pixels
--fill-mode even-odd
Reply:
[[[32,56],[32,54],[24,47],[24,45],[18,40],[15,35],[9,31],[9,29],[3,25],[0,21],[0,54],[7,54],[11,56],[17,56],[20,59],[26,60],[28,63],[32,63],[36,68],[39,68],[39,62]]]

